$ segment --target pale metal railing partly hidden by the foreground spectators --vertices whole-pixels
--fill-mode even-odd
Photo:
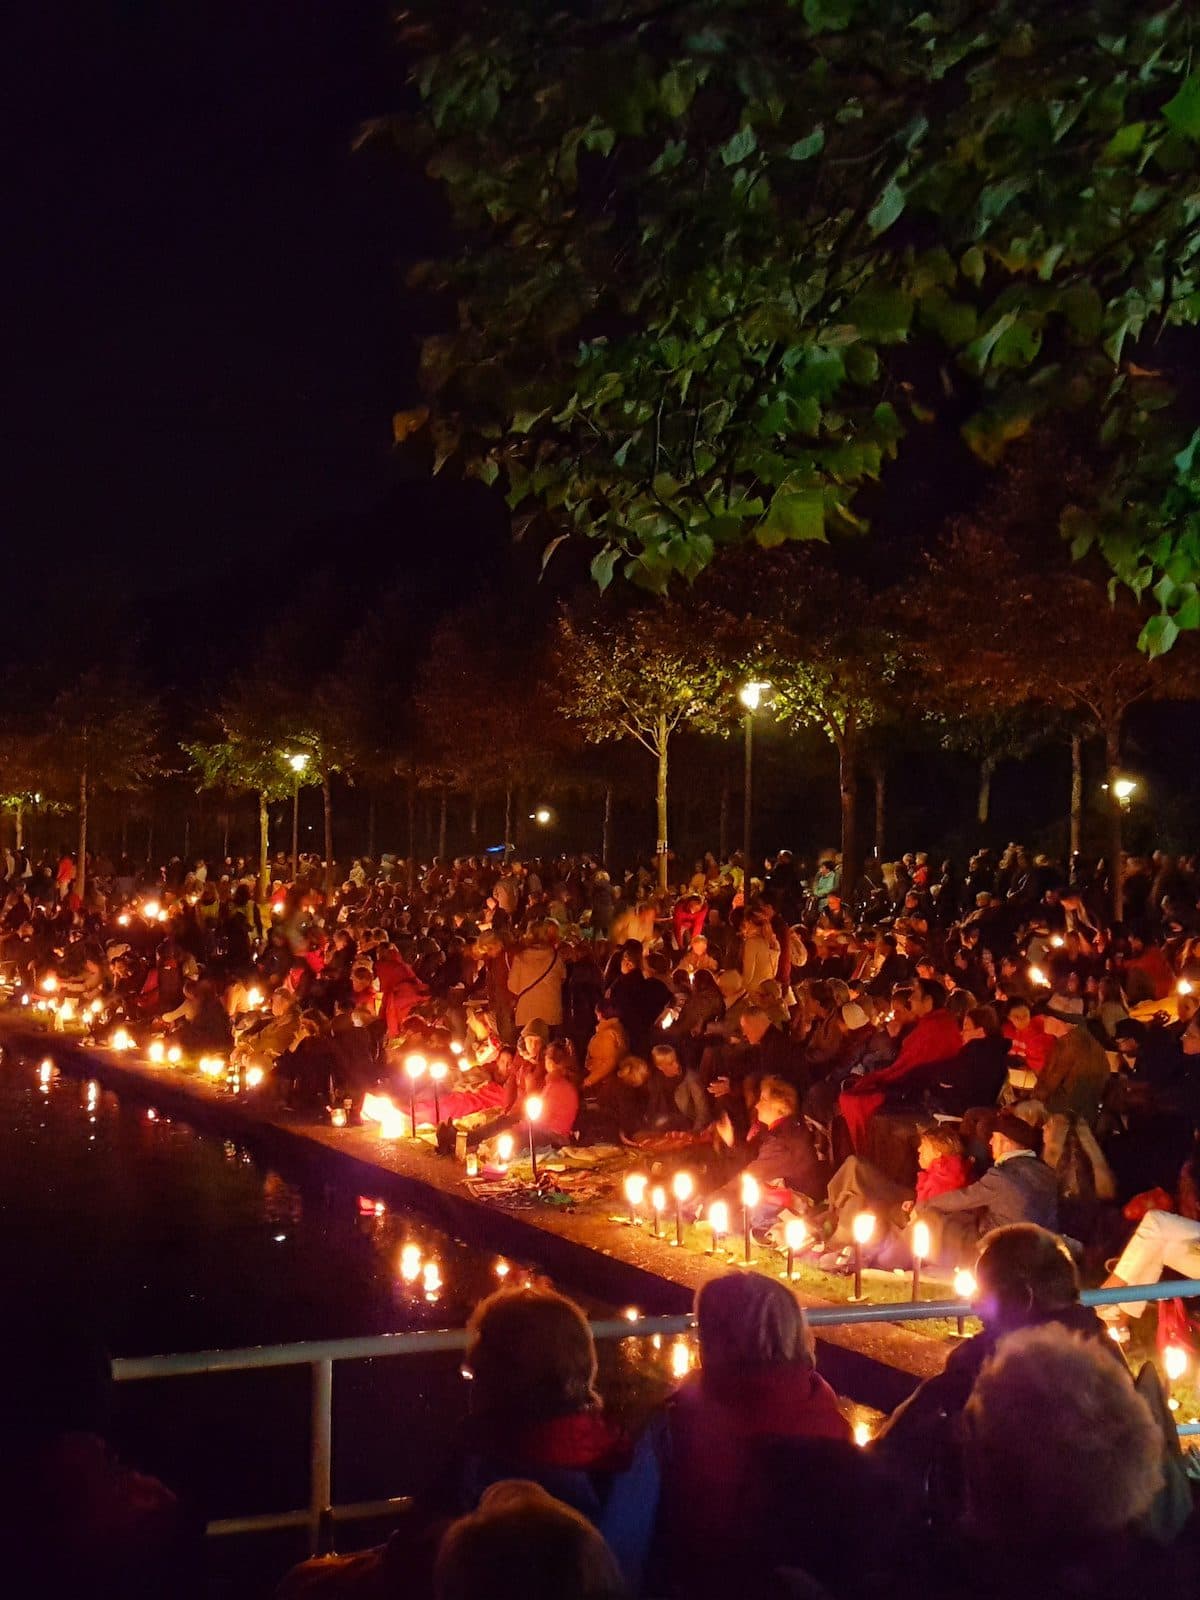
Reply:
[[[1200,1280],[1144,1283],[1115,1290],[1085,1290],[1085,1306],[1128,1306],[1136,1301],[1194,1299]],[[880,1301],[867,1306],[813,1306],[805,1315],[813,1328],[838,1328],[874,1322],[960,1320],[974,1315],[970,1301]],[[694,1318],[638,1317],[594,1322],[597,1339],[650,1339],[654,1334],[691,1333]],[[408,1498],[333,1502],[333,1368],[336,1362],[366,1362],[394,1355],[437,1355],[466,1350],[467,1330],[446,1328],[422,1333],[382,1333],[362,1339],[317,1339],[302,1344],[262,1344],[243,1350],[195,1350],[189,1355],[134,1355],[112,1363],[118,1382],[154,1378],[194,1378],[200,1373],[243,1373],[264,1366],[307,1366],[310,1384],[309,1504],[304,1510],[264,1512],[253,1517],[226,1517],[208,1523],[210,1536],[269,1533],[307,1528],[309,1549],[328,1546],[333,1525],[371,1517],[392,1517],[411,1504]],[[1181,1435],[1200,1435],[1200,1422],[1179,1426]]]

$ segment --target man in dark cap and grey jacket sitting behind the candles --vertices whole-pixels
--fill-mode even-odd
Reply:
[[[1010,1222],[1058,1232],[1058,1178],[1038,1155],[1040,1133],[1013,1112],[992,1122],[992,1166],[966,1189],[934,1195],[920,1206],[933,1234],[933,1259],[957,1267],[979,1240]]]

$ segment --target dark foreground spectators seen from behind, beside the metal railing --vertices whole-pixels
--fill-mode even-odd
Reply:
[[[277,1600],[1194,1592],[1190,1483],[1155,1370],[1134,1379],[1045,1229],[990,1234],[978,1277],[982,1331],[866,1448],[776,1278],[701,1288],[699,1366],[637,1430],[605,1403],[581,1309],[502,1288],[470,1318],[445,1470],[386,1544],[304,1562]],[[62,1330],[11,1349],[6,1592],[198,1595],[200,1522],[112,1451],[107,1368]]]

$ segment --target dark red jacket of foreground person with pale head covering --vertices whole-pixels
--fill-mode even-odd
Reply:
[[[850,1442],[837,1395],[798,1365],[693,1373],[667,1406],[670,1454],[664,1512],[672,1549],[686,1560],[725,1554],[744,1538],[754,1494],[754,1445],[766,1437]]]

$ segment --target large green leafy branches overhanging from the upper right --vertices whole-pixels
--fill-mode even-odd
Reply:
[[[1170,454],[1138,448],[1163,384],[1130,358],[1200,312],[1187,6],[408,18],[429,171],[466,243],[421,274],[458,301],[424,349],[438,466],[459,456],[522,522],[594,541],[602,586],[661,590],[726,544],[861,528],[856,488],[936,416],[995,461],[1040,414],[1090,410],[1122,485],[1091,536],[1125,578],[1174,562],[1165,603],[1194,626],[1200,533],[1178,544]],[[402,413],[397,437],[424,421]]]

